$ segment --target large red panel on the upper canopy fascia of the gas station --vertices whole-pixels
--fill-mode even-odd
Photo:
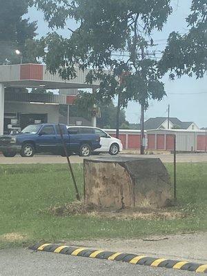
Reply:
[[[43,80],[43,66],[41,64],[21,64],[20,79]]]

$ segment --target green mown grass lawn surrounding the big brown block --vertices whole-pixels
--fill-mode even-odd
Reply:
[[[172,164],[166,167],[172,175]],[[79,190],[83,170],[74,165]],[[39,241],[58,242],[95,238],[133,238],[143,235],[205,231],[207,164],[177,164],[178,206],[190,213],[175,220],[115,220],[83,215],[56,217],[40,212],[75,200],[65,164],[0,166],[0,248]]]

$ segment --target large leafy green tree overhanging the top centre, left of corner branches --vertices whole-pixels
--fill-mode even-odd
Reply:
[[[128,101],[137,101],[148,108],[149,99],[164,97],[158,63],[146,52],[154,46],[152,31],[161,30],[172,12],[170,0],[36,0],[35,3],[51,28],[70,29],[68,18],[79,24],[77,30],[70,29],[72,34],[66,39],[55,32],[46,38],[48,53],[44,61],[50,72],[72,79],[77,63],[83,70],[92,68],[87,81],[101,81],[97,100],[118,96],[118,115]],[[124,57],[121,58],[120,52]]]

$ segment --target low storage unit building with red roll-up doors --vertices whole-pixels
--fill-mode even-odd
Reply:
[[[112,136],[116,136],[116,130],[106,129]],[[120,130],[124,149],[139,150],[141,130]],[[206,130],[145,130],[146,150],[148,151],[172,151],[176,137],[176,149],[179,152],[207,152]]]

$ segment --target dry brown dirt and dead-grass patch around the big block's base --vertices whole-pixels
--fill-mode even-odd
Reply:
[[[106,219],[119,219],[119,220],[159,220],[159,219],[182,219],[186,217],[186,213],[181,213],[175,210],[164,209],[151,209],[151,208],[126,208],[118,211],[112,210],[98,210],[94,206],[86,208],[83,202],[74,201],[70,204],[63,206],[52,206],[47,212],[56,216],[69,216],[69,215],[86,215],[88,217],[106,218]]]

